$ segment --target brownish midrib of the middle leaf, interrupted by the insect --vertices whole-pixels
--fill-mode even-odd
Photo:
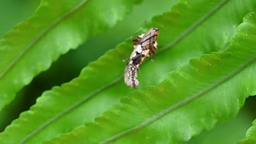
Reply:
[[[176,39],[172,40],[169,44],[167,44],[167,46],[162,47],[162,49],[160,49],[156,55],[158,53],[161,53],[162,51],[165,51],[167,49],[169,49],[171,46],[176,45],[179,41],[181,41],[186,35],[188,35],[190,32],[192,32],[197,26],[199,26],[201,23],[203,23],[204,21],[206,21],[206,19],[210,18],[217,10],[219,10],[226,2],[228,2],[230,0],[224,0],[222,2],[220,2],[218,5],[216,5],[216,7],[214,7],[212,10],[210,10],[209,13],[207,13],[206,15],[202,16],[201,19],[199,19],[198,21],[196,21],[194,23],[194,25],[190,26],[189,28],[185,29],[185,31],[183,33],[181,33],[181,35],[179,35]],[[0,77],[1,78],[1,77]],[[81,104],[83,104],[86,100],[90,99],[91,97],[93,97],[94,95],[96,95],[97,93],[103,91],[105,88],[114,85],[114,83],[117,83],[118,81],[120,81],[121,79],[123,79],[123,75],[121,75],[120,77],[118,77],[118,79],[115,79],[112,82],[109,82],[106,86],[98,88],[95,90],[95,92],[92,92],[90,95],[88,95],[89,98],[84,98],[80,101],[78,101],[77,104],[74,104],[70,107],[68,107],[68,109],[66,109],[65,111],[62,111],[59,115],[56,115],[55,117],[49,119],[49,121],[46,121],[42,126],[40,126],[38,129],[32,131],[32,133],[28,136],[25,137],[24,140],[22,140],[21,143],[26,142],[28,139],[30,139],[33,135],[36,135],[40,130],[42,130],[43,128],[45,128],[46,126],[48,126],[49,124],[51,124],[52,122],[54,122],[56,119],[60,118],[61,116],[65,115],[66,113],[70,112],[71,110],[75,109],[76,107],[80,106]],[[157,118],[156,118],[157,119]],[[153,119],[154,121],[155,119]],[[152,122],[153,122],[152,121]],[[150,122],[151,123],[151,122]],[[137,129],[138,130],[138,129]],[[130,131],[132,132],[132,131]],[[113,138],[112,140],[118,139],[117,137]],[[108,139],[110,140],[110,139]],[[106,142],[108,141],[106,140]],[[110,140],[110,141],[112,141]],[[103,142],[105,143],[105,142]]]

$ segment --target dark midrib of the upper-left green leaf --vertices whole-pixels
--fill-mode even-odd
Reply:
[[[20,61],[20,59],[22,57],[24,57],[26,55],[26,53],[40,40],[44,37],[44,35],[46,33],[48,33],[51,29],[53,29],[55,26],[57,26],[58,23],[60,23],[63,19],[65,19],[66,17],[70,16],[71,14],[75,13],[75,11],[79,10],[80,8],[82,8],[87,2],[89,2],[90,0],[85,0],[81,3],[79,3],[77,6],[75,6],[73,9],[69,10],[67,13],[63,14],[60,17],[57,17],[57,19],[51,23],[51,25],[49,25],[48,27],[46,27],[39,35],[37,35],[37,37],[31,41],[30,44],[27,45],[27,47],[25,47],[25,49],[23,51],[21,51],[21,53],[18,55],[18,57],[16,57],[14,59],[14,61],[12,61],[7,69],[5,69],[2,74],[0,74],[0,80],[8,73],[9,70],[11,70],[14,65],[16,63],[18,63]]]

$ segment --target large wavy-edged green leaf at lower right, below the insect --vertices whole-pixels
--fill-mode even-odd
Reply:
[[[255,38],[254,12],[245,16],[224,52],[192,59],[158,86],[132,92],[126,105],[123,100],[95,122],[46,143],[177,143],[212,129],[217,121],[234,117],[256,93]]]

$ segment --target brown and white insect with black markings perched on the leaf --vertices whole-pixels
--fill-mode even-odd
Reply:
[[[130,61],[125,67],[124,81],[127,86],[136,88],[139,85],[137,80],[137,69],[146,57],[153,55],[157,49],[158,28],[150,28],[146,34],[137,36],[133,41],[133,51],[130,56]]]

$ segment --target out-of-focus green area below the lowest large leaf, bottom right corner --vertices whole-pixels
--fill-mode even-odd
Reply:
[[[245,105],[239,110],[236,117],[230,118],[226,122],[218,122],[213,129],[203,130],[199,135],[193,136],[191,140],[180,144],[236,143],[242,140],[246,130],[251,126],[254,116],[250,112],[254,99],[256,97],[247,98]]]

